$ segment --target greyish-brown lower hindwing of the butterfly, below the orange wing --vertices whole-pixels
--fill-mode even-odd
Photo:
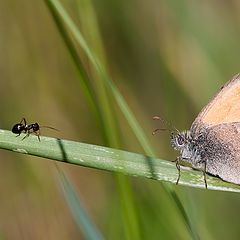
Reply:
[[[203,154],[208,173],[240,184],[240,123],[208,128]]]

